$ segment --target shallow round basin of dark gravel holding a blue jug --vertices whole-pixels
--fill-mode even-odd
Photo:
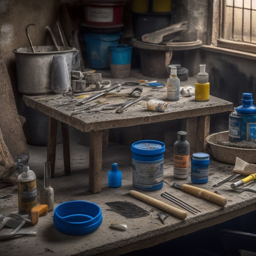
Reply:
[[[214,133],[206,138],[211,155],[219,162],[235,164],[236,157],[247,163],[256,163],[256,143],[251,141],[229,142],[228,131]]]

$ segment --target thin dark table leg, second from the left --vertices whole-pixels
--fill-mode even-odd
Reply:
[[[66,175],[70,175],[70,146],[69,146],[69,125],[61,122],[62,133],[62,147],[63,147],[63,161],[64,172]]]

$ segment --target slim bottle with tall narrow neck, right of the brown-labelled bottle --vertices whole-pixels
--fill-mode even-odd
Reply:
[[[54,191],[51,187],[51,166],[50,162],[45,163],[44,170],[44,187],[41,190],[40,194],[40,204],[47,204],[48,211],[52,211],[54,208]]]

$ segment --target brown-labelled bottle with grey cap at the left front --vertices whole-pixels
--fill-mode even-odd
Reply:
[[[21,174],[17,178],[18,211],[20,214],[28,214],[37,204],[36,175],[27,165],[19,170]]]

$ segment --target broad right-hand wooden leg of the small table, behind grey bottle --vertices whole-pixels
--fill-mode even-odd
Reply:
[[[210,132],[210,116],[189,117],[182,120],[181,129],[187,132],[190,155],[206,152],[206,137]]]

